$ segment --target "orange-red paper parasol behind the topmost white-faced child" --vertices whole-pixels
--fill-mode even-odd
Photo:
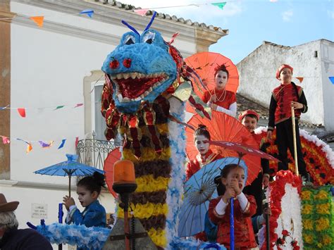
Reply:
[[[207,89],[215,88],[215,69],[219,65],[225,65],[229,75],[225,89],[234,93],[237,92],[237,87],[239,86],[239,73],[237,73],[237,66],[235,66],[229,58],[214,52],[201,52],[186,58],[185,63],[196,71]],[[202,98],[205,90],[202,89],[202,91],[200,91],[198,89],[202,85],[199,82],[195,82],[193,85],[194,92],[199,98]],[[192,108],[190,104],[187,104],[187,111],[194,113],[194,108]]]

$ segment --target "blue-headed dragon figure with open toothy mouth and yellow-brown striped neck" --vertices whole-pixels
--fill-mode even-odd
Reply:
[[[209,117],[192,96],[198,80],[171,42],[149,29],[126,32],[104,61],[106,83],[101,113],[106,139],[123,137],[123,158],[135,163],[137,190],[130,208],[159,248],[169,248],[177,236],[178,213],[185,178],[185,101]],[[173,39],[175,35],[173,36]],[[172,40],[173,40],[172,39]],[[118,210],[119,216],[123,211]]]

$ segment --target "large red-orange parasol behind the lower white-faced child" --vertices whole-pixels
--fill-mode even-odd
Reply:
[[[249,148],[259,149],[259,144],[257,144],[256,140],[253,138],[252,134],[249,133],[247,128],[237,119],[226,115],[225,113],[213,111],[211,120],[202,118],[196,114],[187,124],[196,128],[199,124],[206,125],[211,135],[211,141],[237,142],[245,144]],[[197,148],[194,144],[194,130],[190,127],[186,127],[185,132],[187,134],[187,146],[185,150],[188,158],[192,160],[198,154]],[[224,157],[238,157],[237,152],[232,149],[225,149],[221,146],[215,145],[212,145],[211,149],[215,153],[221,154]],[[247,185],[249,185],[259,174],[261,169],[260,158],[247,154],[242,157],[242,159],[248,167]]]

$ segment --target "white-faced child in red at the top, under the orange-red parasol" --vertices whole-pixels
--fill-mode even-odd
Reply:
[[[216,87],[204,92],[202,101],[209,104],[213,111],[223,112],[235,117],[237,114],[237,99],[235,93],[225,89],[226,82],[228,82],[228,70],[226,70],[225,65],[216,68],[214,76]]]

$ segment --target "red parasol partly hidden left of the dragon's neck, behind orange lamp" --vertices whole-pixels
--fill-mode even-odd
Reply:
[[[109,192],[116,198],[118,194],[113,191],[113,164],[119,161],[122,154],[120,154],[120,149],[116,148],[110,151],[106,160],[104,160],[104,172],[106,175],[106,185],[108,186]]]

